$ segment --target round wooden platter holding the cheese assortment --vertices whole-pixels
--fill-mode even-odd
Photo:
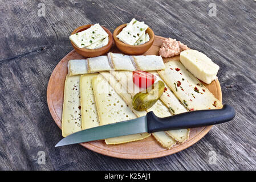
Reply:
[[[153,46],[144,53],[144,55],[159,55],[159,48],[162,40],[165,38],[161,36],[155,37]],[[113,46],[109,52],[119,53],[120,51]],[[172,57],[171,59],[178,59],[179,57]],[[51,112],[52,118],[55,123],[61,129],[62,121],[62,106],[63,106],[63,92],[64,92],[64,81],[67,75],[67,63],[71,59],[84,59],[75,50],[68,53],[63,59],[56,65],[47,88],[47,102]],[[202,82],[204,84],[204,82]],[[213,81],[211,84],[204,84],[206,88],[214,94],[218,100],[222,102],[221,86],[218,80]],[[92,151],[98,152],[103,155],[112,156],[115,158],[123,159],[152,159],[159,158],[162,156],[174,154],[178,151],[184,150],[192,144],[200,140],[206,133],[209,132],[212,126],[198,127],[191,129],[189,140],[183,144],[176,144],[170,150],[166,150],[151,136],[143,140],[136,142],[129,142],[124,144],[107,145],[104,140],[80,143],[83,147],[86,147]]]

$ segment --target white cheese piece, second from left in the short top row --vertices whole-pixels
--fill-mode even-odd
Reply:
[[[108,62],[108,56],[89,57],[87,59],[87,62],[89,73],[111,70],[111,67]]]

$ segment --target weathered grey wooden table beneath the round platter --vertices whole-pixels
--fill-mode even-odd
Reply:
[[[256,2],[213,3],[1,0],[0,169],[256,169]],[[220,65],[223,103],[233,105],[237,116],[214,126],[192,147],[158,159],[116,159],[78,144],[55,148],[62,136],[48,110],[46,89],[56,64],[72,50],[68,36],[91,23],[113,32],[132,18]],[[43,154],[45,164],[39,160]]]

